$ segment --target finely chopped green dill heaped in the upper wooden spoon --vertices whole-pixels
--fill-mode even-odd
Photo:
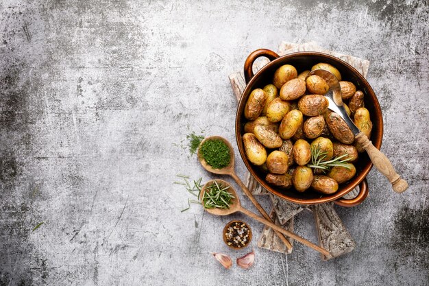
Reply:
[[[206,163],[215,169],[222,169],[231,162],[230,148],[219,139],[204,142],[199,152]]]

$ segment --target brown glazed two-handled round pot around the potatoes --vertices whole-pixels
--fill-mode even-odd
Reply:
[[[267,57],[271,62],[262,67],[260,71],[254,75],[253,73],[253,63],[259,57]],[[359,154],[359,159],[354,165],[356,166],[356,176],[352,178],[349,182],[345,184],[340,184],[339,190],[332,195],[323,195],[308,189],[304,193],[299,193],[293,189],[280,189],[271,184],[268,184],[265,181],[265,174],[258,169],[257,166],[252,165],[245,155],[245,149],[243,146],[242,136],[244,132],[244,124],[247,121],[244,117],[244,108],[247,102],[247,98],[250,93],[255,88],[263,88],[267,84],[272,84],[273,75],[276,69],[281,67],[283,64],[291,64],[295,67],[298,73],[301,73],[304,70],[311,69],[311,67],[319,62],[327,62],[332,64],[336,69],[341,73],[343,80],[353,82],[356,85],[356,89],[363,91],[365,94],[365,108],[369,110],[371,114],[371,121],[373,123],[373,128],[371,132],[371,138],[373,145],[380,150],[383,136],[383,119],[380,104],[378,99],[373,92],[371,86],[363,78],[354,67],[339,58],[330,56],[326,53],[319,53],[313,51],[302,51],[296,53],[289,53],[286,56],[278,56],[277,53],[270,51],[269,49],[258,49],[247,57],[244,65],[244,74],[246,80],[246,88],[241,96],[240,102],[238,103],[237,113],[236,113],[236,124],[235,124],[235,133],[236,141],[238,145],[238,150],[240,151],[241,158],[245,163],[245,166],[249,170],[250,174],[256,178],[256,180],[267,189],[270,193],[277,195],[284,200],[290,202],[295,202],[297,204],[321,204],[324,202],[334,201],[336,204],[341,206],[356,206],[365,200],[368,195],[368,184],[365,177],[369,173],[372,167],[371,160],[366,152]],[[358,196],[352,200],[345,200],[343,195],[352,191],[355,187],[359,185],[360,192]]]

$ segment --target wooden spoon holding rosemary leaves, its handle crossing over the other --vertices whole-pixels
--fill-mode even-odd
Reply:
[[[204,187],[201,189],[201,193],[199,194],[200,196],[200,200],[201,200],[201,204],[203,204],[204,206],[204,202],[202,200],[202,198],[204,197],[204,193],[206,192],[206,189],[211,186],[212,184],[215,183],[215,181],[217,182],[217,184],[222,185],[223,187],[230,187],[228,189],[228,192],[231,193],[234,196],[234,199],[232,199],[232,204],[230,204],[230,208],[204,208],[206,211],[208,211],[208,213],[211,213],[212,215],[230,215],[232,213],[244,213],[245,215],[252,217],[253,219],[256,219],[258,222],[261,222],[262,224],[265,224],[266,226],[269,226],[270,228],[273,228],[273,230],[277,231],[278,233],[282,233],[284,235],[287,235],[288,237],[292,237],[293,239],[295,239],[296,241],[299,241],[300,243],[304,244],[305,246],[308,246],[314,250],[317,250],[318,252],[320,252],[323,255],[329,256],[330,253],[315,245],[314,243],[311,243],[310,241],[299,237],[298,235],[295,235],[295,233],[291,233],[288,230],[285,230],[284,228],[281,228],[280,226],[278,226],[277,224],[274,224],[273,222],[264,219],[263,217],[260,217],[258,215],[256,215],[255,213],[252,213],[251,211],[248,211],[246,208],[243,208],[243,206],[241,206],[240,204],[240,200],[238,199],[238,195],[236,193],[236,191],[234,190],[234,188],[228,183],[225,182],[224,180],[210,180],[208,182],[206,182],[206,184],[204,184]]]

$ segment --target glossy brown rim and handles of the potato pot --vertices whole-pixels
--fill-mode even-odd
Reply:
[[[245,150],[244,150],[243,140],[242,140],[242,135],[241,135],[241,117],[243,117],[245,102],[247,101],[247,97],[250,94],[251,86],[258,79],[258,77],[260,77],[263,73],[265,73],[265,71],[267,71],[267,69],[270,69],[271,66],[279,64],[279,67],[280,67],[280,62],[282,64],[287,64],[288,60],[291,60],[292,58],[295,58],[298,56],[307,56],[307,57],[318,56],[321,58],[327,58],[331,61],[339,62],[339,64],[342,64],[346,69],[349,69],[354,74],[354,76],[356,76],[356,78],[358,78],[360,80],[360,82],[363,84],[363,86],[365,87],[366,95],[371,97],[371,99],[374,103],[373,108],[376,110],[375,114],[373,115],[373,122],[378,123],[378,132],[372,132],[371,141],[372,141],[373,145],[378,150],[380,150],[381,143],[382,143],[382,136],[383,136],[383,119],[382,119],[382,112],[381,112],[380,104],[378,102],[376,94],[373,92],[373,89],[371,88],[371,86],[369,85],[367,80],[365,80],[363,75],[361,75],[356,69],[354,69],[354,67],[352,67],[350,64],[347,64],[347,62],[345,62],[339,58],[328,55],[327,53],[320,53],[320,52],[315,52],[315,51],[299,51],[299,52],[295,52],[295,53],[289,53],[285,56],[280,56],[278,58],[273,59],[272,55],[277,55],[276,53],[274,53],[273,51],[269,51],[271,53],[265,54],[264,51],[269,51],[269,50],[254,51],[253,53],[251,53],[249,55],[249,57],[247,58],[247,60],[245,62],[245,69],[247,69],[247,71],[248,71],[248,69],[252,69],[252,65],[253,65],[254,60],[256,60],[256,58],[258,58],[260,56],[268,56],[268,58],[271,60],[271,62],[266,64],[264,67],[262,67],[262,69],[260,69],[254,76],[252,76],[252,78],[250,78],[249,82],[246,84],[245,90],[243,91],[243,95],[241,96],[240,102],[238,103],[237,112],[236,112],[236,122],[235,122],[236,123],[235,124],[236,142],[237,142],[237,146],[238,146],[238,151],[240,152],[240,156],[243,159],[245,166],[249,170],[250,174],[252,174],[252,176],[262,185],[262,187],[267,189],[267,191],[269,191],[270,193],[273,193],[274,195],[277,195],[278,197],[283,198],[284,200],[288,200],[290,202],[295,202],[297,204],[322,204],[325,202],[332,202],[332,201],[340,199],[341,203],[339,203],[339,204],[342,206],[355,206],[356,204],[359,204],[360,202],[365,200],[365,198],[367,196],[367,191],[368,191],[367,190],[367,184],[366,184],[366,181],[363,182],[363,180],[365,179],[365,177],[367,176],[367,174],[369,173],[369,171],[371,170],[371,168],[373,166],[370,160],[369,160],[369,163],[367,163],[366,165],[363,165],[360,173],[355,178],[353,178],[353,180],[351,182],[349,182],[345,186],[342,186],[339,191],[337,191],[336,193],[334,193],[332,195],[323,195],[323,196],[321,196],[321,198],[303,198],[303,199],[293,198],[289,195],[286,195],[285,193],[282,193],[281,191],[278,191],[277,189],[275,189],[273,186],[268,184],[265,180],[263,180],[262,178],[260,178],[256,174],[256,171],[254,170],[253,165],[249,162],[249,160],[247,159],[247,157],[245,155]],[[252,57],[252,55],[253,55],[253,57]],[[252,72],[250,72],[250,74],[252,74]],[[245,75],[247,75],[246,70],[245,70]],[[351,202],[351,204],[347,204],[347,200],[341,199],[341,197],[343,197],[343,195],[352,191],[359,184],[360,184],[360,189],[361,189],[360,192],[362,193],[364,190],[366,191],[365,194],[360,194],[360,198],[362,198],[360,200],[360,202],[356,202],[356,200],[354,200],[353,203]]]

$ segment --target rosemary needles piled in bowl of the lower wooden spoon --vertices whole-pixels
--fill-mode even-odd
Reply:
[[[216,181],[208,186],[202,198],[204,208],[230,208],[234,196],[227,191],[228,189],[230,186],[223,187]]]

